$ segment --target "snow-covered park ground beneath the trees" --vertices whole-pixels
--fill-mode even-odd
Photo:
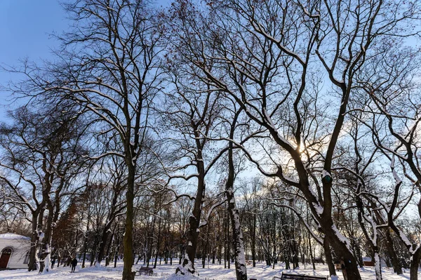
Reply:
[[[135,267],[140,268],[142,265],[136,265]],[[201,267],[201,262],[196,262],[197,267]],[[208,265],[206,265],[208,267]],[[234,267],[234,265],[232,265]],[[154,272],[156,276],[136,276],[136,280],[192,280],[192,276],[174,276],[176,265],[157,265]],[[317,265],[316,271],[313,272],[311,265],[306,265],[304,269],[292,270],[283,270],[282,265],[275,266],[275,269],[272,267],[267,267],[266,265],[257,264],[256,267],[247,267],[248,278],[254,278],[258,280],[272,280],[274,276],[281,276],[282,271],[288,273],[300,273],[300,274],[309,274],[316,276],[327,276],[328,267],[327,265]],[[209,268],[198,268],[199,277],[196,280],[234,280],[235,271],[234,269],[224,269],[223,265],[209,265]],[[75,273],[70,273],[69,267],[59,267],[53,269],[52,272],[47,274],[38,274],[38,272],[27,272],[26,269],[16,269],[16,270],[6,270],[0,271],[1,280],[23,280],[23,279],[36,279],[36,280],[111,280],[111,279],[121,279],[121,272],[123,271],[123,263],[119,262],[117,267],[87,267],[81,269],[78,265],[76,267]],[[404,280],[409,279],[409,272],[404,273],[401,276],[397,276],[393,273],[392,269],[384,268],[382,269],[383,279],[384,280]],[[342,280],[342,273],[338,272],[339,279]],[[364,280],[375,279],[374,267],[365,267],[361,269],[361,276]],[[421,279],[421,271],[419,272],[419,277]],[[352,279],[350,279],[352,280]]]

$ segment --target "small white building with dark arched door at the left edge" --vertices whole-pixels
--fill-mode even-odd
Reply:
[[[28,268],[31,239],[18,234],[0,234],[0,269]]]

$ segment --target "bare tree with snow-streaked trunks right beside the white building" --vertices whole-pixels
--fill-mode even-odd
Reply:
[[[40,272],[44,262],[46,272],[50,269],[51,236],[62,194],[83,168],[83,156],[87,155],[80,143],[83,125],[76,124],[79,114],[74,114],[72,107],[67,112],[62,106],[46,107],[36,113],[20,107],[11,114],[14,124],[0,128],[0,167],[4,171],[0,178],[10,189],[8,203],[32,215],[29,271],[36,269],[39,258]]]

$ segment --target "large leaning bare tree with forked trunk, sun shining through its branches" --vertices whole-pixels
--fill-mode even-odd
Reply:
[[[246,0],[216,1],[207,8],[203,12],[192,2],[180,1],[178,48],[215,90],[236,98],[258,129],[270,135],[279,155],[288,157],[274,156],[266,144],[273,172],[250,155],[262,173],[300,189],[330,246],[345,258],[349,278],[361,279],[349,240],[332,218],[335,147],[356,74],[367,57],[376,55],[372,45],[383,38],[410,36],[406,27],[416,25],[410,20],[416,19],[417,9],[384,1]],[[317,98],[316,75],[322,72],[332,86],[323,92],[338,96],[326,112],[334,119],[330,123],[323,119],[320,105],[328,102],[328,95]],[[312,107],[313,114],[307,114]],[[317,130],[321,124],[328,130]],[[312,156],[317,146],[318,155]],[[323,153],[321,147],[326,147]],[[309,165],[312,160],[316,162]],[[298,180],[286,175],[285,161]]]

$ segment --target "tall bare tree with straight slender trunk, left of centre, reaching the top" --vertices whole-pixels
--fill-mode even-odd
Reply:
[[[150,108],[162,83],[159,14],[141,0],[77,0],[65,9],[74,28],[58,36],[63,47],[56,62],[39,71],[23,69],[32,91],[16,92],[74,102],[88,112],[95,129],[101,126],[100,135],[118,139],[122,150],[96,158],[114,155],[126,164],[123,279],[133,279],[135,172],[147,149]]]

